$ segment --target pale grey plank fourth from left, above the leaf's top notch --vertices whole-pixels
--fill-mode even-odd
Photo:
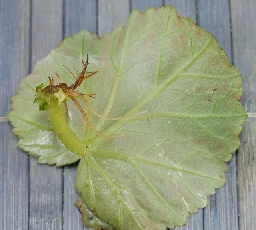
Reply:
[[[129,12],[129,0],[98,0],[99,36],[111,32],[117,25],[124,26]]]

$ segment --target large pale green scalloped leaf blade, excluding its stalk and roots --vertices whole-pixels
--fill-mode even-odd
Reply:
[[[78,158],[58,143],[47,111],[33,104],[34,89],[54,72],[71,85],[62,65],[80,70],[87,53],[88,71],[99,72],[78,91],[97,93],[90,105],[109,117],[145,112],[108,121],[86,111],[101,133],[125,134],[106,139],[68,101],[70,127],[87,144],[76,178],[85,225],[164,230],[185,224],[225,184],[225,162],[240,145],[246,120],[240,73],[211,34],[171,6],[134,10],[124,28],[102,38],[82,30],[39,61],[12,100],[8,117],[19,145],[41,162]]]

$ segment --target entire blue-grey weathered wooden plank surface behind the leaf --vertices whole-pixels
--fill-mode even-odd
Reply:
[[[134,8],[168,4],[217,38],[242,73],[242,102],[248,112],[256,112],[255,0],[0,0],[0,117],[10,110],[20,79],[64,36],[82,28],[101,36],[124,25]],[[6,119],[0,121],[0,229],[85,229],[74,207],[76,165],[38,165],[16,147]],[[176,230],[256,229],[255,133],[256,119],[250,118],[238,157],[228,163],[227,184]]]

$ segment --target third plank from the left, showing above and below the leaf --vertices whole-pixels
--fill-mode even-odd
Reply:
[[[90,32],[97,31],[97,2],[84,0],[65,0],[65,37],[72,36],[81,29]],[[75,191],[77,164],[64,167],[64,204],[63,204],[63,230],[85,229],[81,215],[74,206],[77,194]]]

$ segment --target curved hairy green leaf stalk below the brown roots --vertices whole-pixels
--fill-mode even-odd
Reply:
[[[62,143],[76,155],[86,157],[86,144],[80,141],[74,131],[68,126],[64,110],[62,106],[58,105],[56,97],[51,97],[47,109],[54,130]]]

